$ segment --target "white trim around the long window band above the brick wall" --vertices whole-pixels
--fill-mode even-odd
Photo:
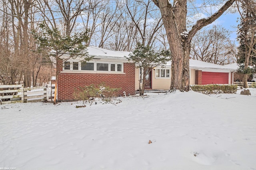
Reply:
[[[63,63],[62,70],[66,72],[96,72],[96,73],[124,73],[124,63],[116,63],[116,62],[104,62],[104,61],[88,61],[87,63],[94,63],[94,70],[82,70],[82,62],[81,61],[65,61],[70,62],[70,70],[65,70],[65,64]],[[78,70],[73,70],[73,62],[78,62]],[[96,70],[97,69],[97,63],[104,63],[108,64],[108,71],[102,71],[102,70]],[[115,64],[115,71],[111,71],[111,64]],[[117,64],[121,64],[122,71],[117,71]]]

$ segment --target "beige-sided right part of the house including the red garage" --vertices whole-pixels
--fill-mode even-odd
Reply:
[[[189,60],[190,85],[192,84],[233,84],[236,68],[232,65],[218,65],[198,60]],[[135,70],[135,90],[139,89],[140,68]],[[154,68],[146,76],[145,89],[169,90],[171,84],[171,63]]]

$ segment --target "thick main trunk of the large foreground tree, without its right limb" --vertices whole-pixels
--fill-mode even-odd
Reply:
[[[176,9],[177,16],[175,16],[173,8],[168,1],[158,1],[158,3],[159,6],[162,7],[160,8],[160,11],[162,14],[164,27],[166,29],[168,43],[170,45],[170,51],[172,53],[172,76],[170,89],[177,89],[183,91],[186,90],[185,87],[189,86],[189,79],[187,80],[187,78],[184,77],[187,77],[186,74],[189,75],[189,61],[185,60],[187,60],[186,54],[190,52],[190,49],[188,50],[186,48],[187,45],[184,44],[184,39],[180,35],[182,32],[186,31],[186,25],[184,22],[176,22],[176,18],[179,16],[179,21],[186,21],[186,10],[179,11],[178,9]],[[182,0],[182,2],[177,2],[176,5],[182,5],[184,7],[186,6],[186,0]],[[187,55],[187,57],[189,57],[189,54]]]

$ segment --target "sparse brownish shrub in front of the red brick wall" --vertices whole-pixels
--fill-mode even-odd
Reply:
[[[105,86],[104,83],[100,84],[98,87],[95,87],[94,84],[90,86],[80,87],[75,89],[74,98],[75,100],[82,100],[84,102],[94,101],[95,98],[100,98],[101,101],[111,102],[111,97],[115,96],[115,92],[121,90],[120,88],[110,88]]]

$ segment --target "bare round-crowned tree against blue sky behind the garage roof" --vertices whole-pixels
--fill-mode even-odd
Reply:
[[[203,28],[191,41],[190,57],[195,60],[214,64],[236,62],[234,43],[229,39],[230,32],[220,25]]]

